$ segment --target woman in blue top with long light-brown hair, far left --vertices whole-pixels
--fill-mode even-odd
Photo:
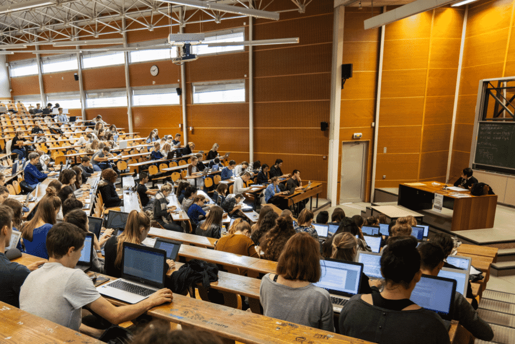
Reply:
[[[59,209],[61,209],[61,199],[56,196],[53,188],[47,188],[46,195],[39,202],[36,215],[21,228],[26,253],[48,259],[46,235],[56,224]]]

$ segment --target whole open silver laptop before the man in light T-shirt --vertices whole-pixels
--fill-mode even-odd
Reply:
[[[138,303],[164,288],[166,251],[124,242],[122,278],[97,287],[100,294]]]

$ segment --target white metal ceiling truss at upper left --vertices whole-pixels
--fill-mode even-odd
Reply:
[[[186,24],[244,18],[221,10],[191,8],[158,0],[54,0],[56,5],[0,14],[0,44],[59,42],[123,35],[124,32],[149,30]],[[312,0],[291,0],[301,13]],[[212,0],[207,0],[212,2]],[[214,5],[232,5],[264,11],[274,0],[225,0]],[[20,0],[0,0],[0,8]],[[183,11],[179,11],[179,8]],[[208,18],[198,20],[197,13]],[[205,17],[205,16],[204,16]],[[122,20],[126,20],[125,28]]]

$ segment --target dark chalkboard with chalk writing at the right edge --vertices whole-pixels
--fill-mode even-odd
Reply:
[[[514,174],[515,123],[479,122],[478,124],[474,164],[479,169]]]

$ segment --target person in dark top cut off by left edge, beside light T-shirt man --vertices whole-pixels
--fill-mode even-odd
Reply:
[[[5,247],[11,244],[13,211],[6,205],[0,205],[0,301],[14,307],[20,307],[20,288],[30,271],[36,270],[46,260],[38,261],[25,267],[9,261],[5,256]]]

